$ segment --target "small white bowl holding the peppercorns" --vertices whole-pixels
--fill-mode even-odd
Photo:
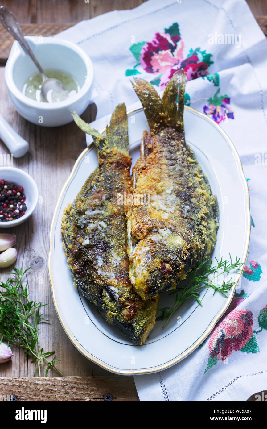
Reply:
[[[25,215],[19,219],[15,219],[10,222],[1,222],[0,228],[13,228],[17,227],[22,222],[26,221],[32,214],[38,201],[38,189],[33,178],[30,177],[23,170],[15,167],[0,167],[0,180],[5,180],[22,186],[24,188],[24,194],[26,196],[25,204],[27,210]]]

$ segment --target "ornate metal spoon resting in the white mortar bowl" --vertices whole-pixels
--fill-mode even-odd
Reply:
[[[68,97],[68,91],[65,86],[57,79],[48,78],[45,76],[44,70],[36,60],[33,51],[24,39],[21,27],[17,22],[15,15],[6,8],[6,6],[0,7],[0,21],[3,27],[16,39],[18,40],[21,47],[24,49],[36,65],[37,69],[42,76],[41,94],[44,100],[48,103],[65,100]]]

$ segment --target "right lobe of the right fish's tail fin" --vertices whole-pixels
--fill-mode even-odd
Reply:
[[[164,112],[168,118],[178,124],[183,124],[184,93],[186,86],[186,74],[183,69],[177,70],[167,83],[162,96]],[[178,93],[179,88],[179,93]],[[178,109],[177,109],[178,97]]]

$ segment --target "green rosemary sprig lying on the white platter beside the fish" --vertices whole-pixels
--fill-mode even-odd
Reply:
[[[240,258],[233,262],[231,255],[230,261],[228,260],[217,260],[216,258],[216,266],[212,266],[212,260],[207,259],[202,262],[194,271],[190,272],[187,275],[187,284],[185,287],[177,287],[175,290],[172,290],[169,295],[172,295],[174,298],[174,305],[172,307],[159,308],[157,311],[162,311],[162,314],[156,318],[156,320],[166,320],[163,328],[169,322],[171,316],[175,313],[175,311],[180,308],[183,302],[189,298],[195,298],[199,305],[202,306],[201,300],[199,299],[200,292],[207,287],[211,287],[215,292],[222,293],[223,296],[228,298],[226,293],[229,292],[231,287],[234,286],[234,282],[231,281],[231,278],[225,282],[216,283],[216,279],[219,280],[225,273],[230,274],[231,270],[240,272],[241,266],[243,266],[243,262],[240,262]],[[214,295],[213,293],[213,295]]]

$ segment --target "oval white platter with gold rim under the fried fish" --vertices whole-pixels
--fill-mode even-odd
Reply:
[[[229,259],[229,253],[245,262],[251,223],[249,191],[237,151],[219,125],[206,115],[186,107],[184,124],[186,142],[195,152],[219,202],[220,225],[213,252],[214,263],[215,257]],[[128,112],[128,126],[134,165],[139,157],[143,130],[149,130],[141,108]],[[97,165],[96,148],[90,145],[78,157],[57,202],[48,257],[54,305],[69,339],[84,356],[99,366],[126,375],[160,371],[188,356],[204,341],[230,304],[240,275],[232,276],[235,286],[230,290],[228,299],[218,292],[213,296],[213,290],[204,290],[200,297],[202,307],[195,300],[189,300],[164,329],[163,322],[157,321],[143,346],[132,345],[73,286],[60,237],[64,207],[75,199]],[[173,298],[166,292],[160,298],[159,308],[171,302]]]

